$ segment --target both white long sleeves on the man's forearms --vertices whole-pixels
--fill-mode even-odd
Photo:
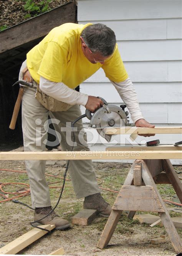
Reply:
[[[131,80],[127,78],[125,81],[119,83],[114,81],[111,81],[111,83],[114,85],[120,97],[129,109],[132,121],[135,123],[139,119],[144,119],[139,107],[137,94]],[[85,106],[88,101],[87,94],[80,93],[69,88],[64,83],[56,83],[42,76],[40,77],[40,89],[43,93],[71,105],[79,104]]]

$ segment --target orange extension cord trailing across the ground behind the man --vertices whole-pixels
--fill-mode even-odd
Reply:
[[[0,171],[8,171],[8,172],[22,172],[22,173],[27,173],[26,171],[17,171],[17,170],[8,170],[8,169],[0,169]],[[64,179],[63,177],[59,177],[59,176],[55,176],[55,175],[51,175],[51,174],[47,174],[45,173],[46,176],[50,176],[50,177],[55,177],[55,178],[59,178],[59,179]],[[102,180],[100,179],[97,179],[100,181],[99,185],[102,184]],[[66,179],[66,181],[71,181],[71,179]],[[55,181],[55,182],[48,182],[48,184],[55,184],[55,183],[59,183],[60,181]],[[13,186],[16,186],[16,185],[25,185],[24,188],[20,189],[20,190],[24,190],[24,191],[20,191],[18,190],[17,192],[5,192],[2,187],[6,186],[6,185],[13,185]],[[72,187],[72,186],[69,186],[67,185],[66,187]],[[0,184],[0,190],[2,193],[4,194],[0,194],[0,196],[4,197],[5,199],[0,201],[0,203],[3,203],[3,202],[7,202],[7,201],[10,201],[12,199],[15,199],[17,197],[23,197],[23,196],[26,196],[26,195],[30,195],[30,185],[28,184],[25,184],[25,183],[20,183],[20,182],[9,182],[9,183],[2,183]],[[62,188],[62,186],[51,186],[49,187],[50,189],[56,189],[56,188]],[[116,190],[111,190],[111,189],[106,189],[104,187],[99,187],[100,189],[103,189],[103,190],[107,190],[107,191],[110,191],[110,192],[114,192],[114,193],[119,193],[119,191],[116,191]],[[7,198],[7,196],[5,194],[14,194],[15,196],[14,197],[11,197],[11,198]],[[18,194],[18,195],[17,195]],[[182,204],[179,204],[179,203],[176,203],[176,202],[172,202],[172,201],[169,201],[169,200],[163,200],[164,202],[169,202],[169,203],[172,203],[172,204],[175,204],[175,205],[178,205],[178,206],[182,206]]]

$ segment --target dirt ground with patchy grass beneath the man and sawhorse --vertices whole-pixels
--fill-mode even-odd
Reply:
[[[130,164],[111,162],[94,162],[93,165],[100,186],[117,191],[121,188],[129,168],[131,167]],[[25,163],[24,161],[0,161],[0,168],[21,171],[25,170]],[[181,178],[182,167],[175,166],[175,170]],[[63,177],[64,171],[64,161],[46,161],[46,173]],[[29,184],[26,173],[0,170],[0,175],[1,183],[21,182]],[[69,174],[67,178],[70,178]],[[60,183],[51,184],[53,186],[61,186],[62,184],[62,180],[56,177],[46,176],[46,179],[48,182],[60,181]],[[163,199],[175,202],[178,201],[170,185],[157,186]],[[18,187],[25,187],[25,185],[18,185]],[[7,192],[13,192],[17,190],[17,187],[7,185],[3,187],[3,189]],[[112,205],[117,194],[107,190],[101,190],[101,192],[104,199]],[[59,187],[50,189],[52,206],[56,204],[59,194]],[[9,194],[9,197],[12,197],[12,195]],[[1,198],[0,200],[3,199]],[[18,200],[31,205],[30,195],[20,197]],[[167,207],[182,209],[174,205],[167,205]],[[61,217],[71,222],[71,218],[81,209],[83,209],[83,199],[76,199],[71,182],[66,181],[63,196],[56,212]],[[169,212],[170,216],[180,216],[178,212]],[[5,246],[5,244],[10,243],[32,228],[29,222],[33,221],[33,210],[23,205],[15,204],[12,201],[1,203],[0,214],[0,247]],[[138,221],[127,219],[124,214],[117,224],[108,247],[103,250],[98,249],[96,244],[98,243],[106,221],[106,218],[97,217],[89,226],[72,225],[70,229],[65,231],[53,231],[51,234],[46,234],[38,239],[18,254],[50,254],[56,249],[63,247],[65,255],[176,255],[168,236],[166,237],[165,243],[156,245],[150,243],[151,238],[159,237],[160,234],[166,234],[164,227],[150,227],[149,224],[141,224]],[[177,231],[182,237],[182,229],[177,229]]]

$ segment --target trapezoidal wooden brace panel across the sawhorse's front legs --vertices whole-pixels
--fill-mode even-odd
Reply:
[[[123,185],[113,210],[165,212],[152,186]]]

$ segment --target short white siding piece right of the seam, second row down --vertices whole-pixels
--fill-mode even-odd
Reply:
[[[167,39],[182,38],[182,19],[167,19]]]

